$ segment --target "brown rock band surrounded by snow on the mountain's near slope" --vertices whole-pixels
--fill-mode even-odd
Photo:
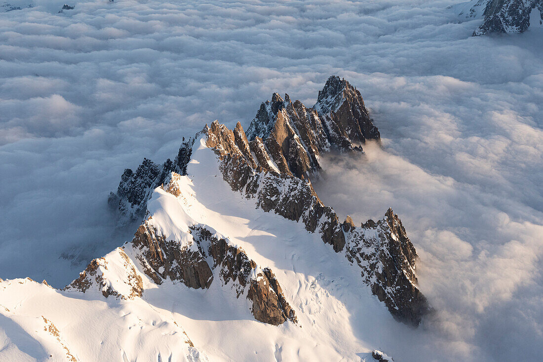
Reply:
[[[271,270],[260,271],[243,249],[213,236],[204,226],[190,227],[187,237],[190,240],[183,243],[168,240],[152,225],[152,218],[138,228],[132,247],[143,271],[156,284],[169,278],[190,288],[204,289],[210,287],[215,275],[224,285],[230,285],[237,297],[246,295],[252,301],[251,312],[256,320],[272,325],[296,322],[294,310]]]

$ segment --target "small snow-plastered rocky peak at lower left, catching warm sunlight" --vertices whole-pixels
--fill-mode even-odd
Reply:
[[[143,282],[134,263],[123,249],[118,247],[103,258],[93,259],[79,274],[79,278],[67,285],[64,290],[85,293],[91,288],[102,291],[106,298],[112,295],[121,299],[134,299],[141,297]]]

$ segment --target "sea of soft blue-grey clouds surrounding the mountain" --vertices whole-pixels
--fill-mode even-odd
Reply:
[[[391,354],[543,355],[543,28],[470,37],[454,0],[64,1],[0,12],[0,277],[62,287],[131,239],[107,207],[124,168],[338,74],[383,147],[315,187],[357,223],[394,208],[437,310]]]

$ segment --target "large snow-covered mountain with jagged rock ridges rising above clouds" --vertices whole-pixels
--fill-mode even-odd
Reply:
[[[214,121],[174,161],[125,170],[109,201],[143,214],[134,239],[63,290],[2,281],[0,359],[391,360],[374,331],[430,311],[413,244],[392,209],[341,222],[311,183],[319,154],[379,138],[330,77],[311,109],[274,93],[247,134]]]

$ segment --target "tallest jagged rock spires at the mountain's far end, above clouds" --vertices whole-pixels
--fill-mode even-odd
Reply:
[[[317,103],[307,108],[274,93],[260,106],[247,131],[253,149],[264,149],[279,172],[306,179],[320,169],[319,154],[336,149],[362,151],[380,139],[360,92],[345,79],[330,77]],[[256,154],[256,152],[255,152]],[[262,163],[261,163],[262,166]]]

